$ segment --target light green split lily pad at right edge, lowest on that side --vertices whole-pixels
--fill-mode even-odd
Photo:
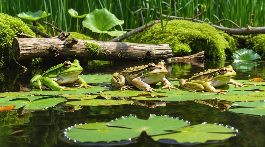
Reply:
[[[228,111],[250,115],[265,115],[265,101],[236,102],[232,106],[243,108],[231,108]]]

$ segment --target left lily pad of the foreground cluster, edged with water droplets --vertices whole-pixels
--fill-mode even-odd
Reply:
[[[77,125],[64,132],[69,140],[75,140],[80,143],[122,141],[139,136],[139,132],[137,130],[108,127],[106,126],[106,123],[88,123],[84,125]]]

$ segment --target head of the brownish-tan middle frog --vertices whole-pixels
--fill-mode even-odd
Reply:
[[[149,63],[143,71],[143,76],[164,76],[168,70],[165,68],[165,62],[161,61],[157,65]]]

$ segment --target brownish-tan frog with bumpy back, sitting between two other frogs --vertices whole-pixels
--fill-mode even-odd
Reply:
[[[171,89],[179,90],[165,78],[167,73],[168,70],[166,69],[165,62],[160,61],[157,65],[151,62],[148,65],[134,66],[126,68],[120,73],[116,72],[110,81],[112,86],[116,86],[120,90],[135,89],[136,87],[142,91],[158,92],[158,90],[150,86],[158,82],[161,82],[163,85],[161,89],[168,88],[170,91]]]

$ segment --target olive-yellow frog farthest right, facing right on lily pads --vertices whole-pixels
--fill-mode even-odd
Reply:
[[[194,74],[191,78],[188,79],[180,79],[179,84],[180,88],[186,91],[196,92],[196,91],[207,91],[207,92],[215,92],[226,94],[228,90],[215,89],[215,87],[223,86],[225,84],[233,84],[237,88],[241,87],[249,87],[248,85],[244,85],[238,83],[231,79],[236,76],[236,72],[233,69],[233,66],[228,65],[226,67],[222,66],[219,69],[208,69],[202,71],[198,74]]]

